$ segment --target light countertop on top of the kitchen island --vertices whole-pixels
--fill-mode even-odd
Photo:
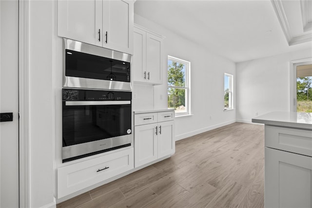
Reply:
[[[252,122],[312,130],[312,113],[271,112],[253,118]]]

